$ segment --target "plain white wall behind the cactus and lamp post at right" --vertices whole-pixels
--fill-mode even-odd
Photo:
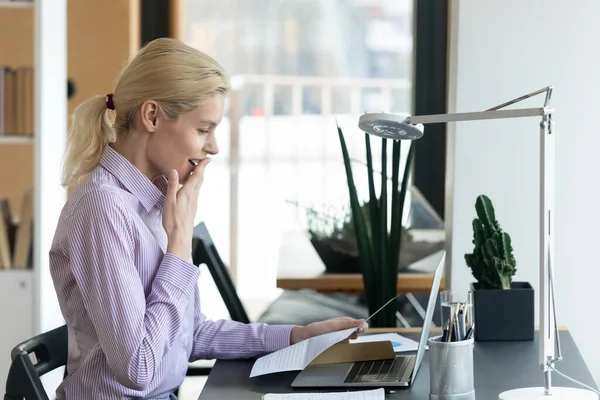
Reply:
[[[600,2],[454,0],[451,16],[450,112],[479,111],[547,85],[556,108],[556,281],[558,323],[567,325],[597,382],[600,265]],[[519,103],[541,106],[543,96]],[[449,126],[450,285],[473,281],[478,194],[490,196],[512,236],[515,280],[538,288],[539,120],[462,122]],[[536,292],[537,315],[537,292]],[[568,355],[566,355],[568,357]]]

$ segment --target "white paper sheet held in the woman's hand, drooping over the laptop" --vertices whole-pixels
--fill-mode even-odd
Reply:
[[[356,328],[349,328],[326,333],[263,356],[254,362],[250,378],[275,372],[303,370],[319,354],[347,339],[355,331]]]

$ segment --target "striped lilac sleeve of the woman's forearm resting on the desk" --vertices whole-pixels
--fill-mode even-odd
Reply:
[[[212,321],[200,311],[200,295],[197,288],[195,297],[194,344],[190,362],[215,358],[252,358],[290,345],[293,325]]]

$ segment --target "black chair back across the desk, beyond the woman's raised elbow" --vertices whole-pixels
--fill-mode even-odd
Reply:
[[[249,323],[250,319],[246,314],[246,309],[235,290],[229,271],[223,263],[204,222],[199,223],[194,228],[192,258],[195,265],[206,264],[208,267],[231,319],[245,324]]]

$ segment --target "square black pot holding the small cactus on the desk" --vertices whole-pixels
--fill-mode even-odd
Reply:
[[[533,340],[534,290],[528,282],[512,282],[510,290],[478,286],[471,283],[475,340]]]

